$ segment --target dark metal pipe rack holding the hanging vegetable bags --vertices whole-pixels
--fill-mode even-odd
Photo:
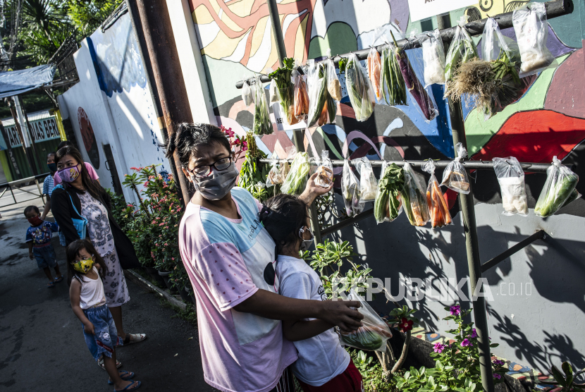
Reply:
[[[269,4],[269,10],[271,13],[271,19],[273,20],[272,27],[273,27],[273,36],[276,41],[277,51],[278,51],[278,61],[279,63],[283,63],[283,56],[286,55],[285,47],[283,43],[283,34],[282,34],[282,27],[280,23],[277,23],[278,16],[278,4],[276,4],[276,0],[267,0]],[[548,1],[545,3],[546,6],[546,16],[548,19],[557,18],[559,16],[567,15],[573,12],[574,6],[572,0],[553,0]],[[494,16],[493,18],[498,22],[500,29],[512,27],[512,14],[513,12],[502,13],[500,15]],[[484,26],[486,25],[486,19],[478,20],[472,23],[467,23],[465,28],[469,32],[470,35],[481,35],[484,31]],[[440,30],[441,32],[441,39],[443,40],[443,44],[450,44],[455,35],[455,30],[457,27],[449,27],[447,29]],[[381,51],[384,45],[378,45],[376,50]],[[397,42],[398,47],[405,47],[407,49],[412,49],[416,47],[420,47],[420,43],[418,39],[401,39]],[[367,59],[369,49],[362,49],[359,51],[354,51],[352,53],[347,54],[340,54],[337,56],[333,56],[333,61],[338,63],[338,61],[342,58],[347,58],[350,54],[355,54],[359,60]],[[322,60],[321,60],[322,61]],[[269,82],[271,79],[268,75],[261,75],[260,81],[261,82]],[[250,78],[248,80],[240,80],[236,83],[235,87],[238,89],[242,88],[244,83],[250,85],[250,82],[254,82],[254,78]],[[465,139],[465,125],[463,120],[462,108],[460,102],[453,102],[452,99],[448,99],[449,104],[449,113],[451,119],[451,128],[452,128],[452,137],[453,137],[453,145],[457,145],[458,142],[461,142],[463,146],[467,149],[467,140]],[[295,146],[297,147],[297,151],[304,151],[304,143],[302,142],[302,130],[295,130],[293,133]],[[270,160],[263,160],[263,161],[270,161]],[[382,161],[371,161],[372,166],[381,166]],[[437,161],[436,165],[438,168],[445,167],[450,161]],[[404,161],[394,161],[395,164],[399,166],[404,166]],[[334,166],[343,165],[343,161],[340,160],[333,160]],[[419,167],[424,164],[424,161],[410,161],[410,164],[414,167]],[[469,174],[471,170],[481,170],[481,169],[493,169],[493,163],[491,162],[483,162],[483,161],[462,161],[463,166],[465,167],[466,171]],[[524,171],[531,171],[531,172],[545,172],[546,169],[550,166],[550,164],[538,164],[538,163],[522,163],[522,169]],[[474,209],[474,197],[473,197],[473,186],[472,183],[469,183],[469,194],[464,195],[460,194],[459,197],[460,207],[461,207],[461,215],[463,220],[463,229],[465,233],[465,247],[467,250],[467,264],[469,268],[469,281],[470,281],[470,290],[471,293],[476,293],[476,285],[481,278],[481,272],[486,271],[486,269],[493,267],[498,262],[502,261],[503,259],[509,257],[513,253],[517,252],[518,250],[522,249],[529,243],[534,242],[534,240],[538,240],[539,238],[544,238],[544,233],[537,232],[534,235],[531,235],[526,240],[522,241],[521,243],[511,247],[506,252],[503,252],[502,255],[496,256],[490,261],[486,262],[484,265],[481,265],[480,257],[479,257],[479,244],[478,244],[478,236],[477,236],[477,224],[475,219],[475,209]],[[312,226],[314,228],[315,240],[319,241],[321,239],[321,231],[319,231],[319,224],[317,222],[316,216],[316,209],[314,207],[314,203],[310,209],[310,215],[312,218]],[[364,219],[365,217],[371,215],[373,213],[373,209],[368,210],[366,212],[362,212],[358,214],[353,219],[346,219],[341,221],[330,228],[327,228],[323,231],[323,234],[333,233],[333,231],[340,230],[343,227],[349,226],[352,223],[355,223],[357,219]],[[481,372],[481,386],[484,392],[493,392],[493,374],[491,369],[491,355],[490,355],[490,343],[488,338],[488,321],[487,321],[487,312],[486,312],[486,302],[483,296],[474,298],[470,295],[473,300],[473,309],[474,309],[474,321],[477,330],[477,338],[479,341],[479,367]]]

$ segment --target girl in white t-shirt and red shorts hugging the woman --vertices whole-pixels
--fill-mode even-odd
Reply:
[[[300,300],[326,300],[321,279],[299,257],[313,242],[307,204],[299,197],[276,195],[266,202],[260,221],[276,243],[278,293]],[[293,374],[305,392],[362,392],[362,375],[340,345],[333,325],[319,319],[283,321],[283,335],[295,344],[299,359]]]

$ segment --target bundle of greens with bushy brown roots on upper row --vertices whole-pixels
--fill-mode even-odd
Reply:
[[[498,59],[493,61],[472,59],[462,63],[448,84],[445,97],[461,101],[466,94],[468,107],[474,104],[486,117],[491,117],[515,102],[519,92],[522,92],[522,82],[516,63],[501,50]]]

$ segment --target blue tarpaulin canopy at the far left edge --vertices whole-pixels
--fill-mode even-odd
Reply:
[[[50,84],[55,69],[54,64],[47,64],[20,71],[0,72],[0,98],[12,97]]]

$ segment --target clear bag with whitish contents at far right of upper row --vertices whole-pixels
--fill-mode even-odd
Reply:
[[[512,13],[512,25],[522,58],[520,78],[542,71],[555,61],[546,47],[548,23],[543,3],[530,3]]]

